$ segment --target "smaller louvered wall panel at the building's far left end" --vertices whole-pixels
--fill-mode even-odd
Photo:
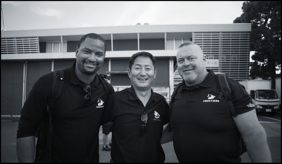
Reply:
[[[1,38],[2,54],[39,53],[38,37]]]

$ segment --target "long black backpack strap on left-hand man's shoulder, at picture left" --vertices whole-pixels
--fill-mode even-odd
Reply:
[[[51,98],[47,105],[47,112],[49,112],[49,131],[47,136],[47,155],[51,157],[51,145],[52,145],[52,110],[55,101],[60,97],[61,92],[64,86],[64,70],[55,70],[52,71],[53,74],[53,82],[52,82],[52,92]]]

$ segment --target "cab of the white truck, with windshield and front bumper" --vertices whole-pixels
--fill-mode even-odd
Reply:
[[[276,112],[280,112],[279,98],[274,89],[258,89],[251,90],[250,96],[253,98],[257,113],[269,113],[274,116]]]

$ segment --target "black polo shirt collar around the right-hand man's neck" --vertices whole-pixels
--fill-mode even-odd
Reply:
[[[196,86],[187,87],[183,79],[181,88],[179,88],[180,89],[179,91],[182,92],[183,89],[191,90],[192,88],[199,88],[199,87],[211,88],[214,84],[215,74],[212,69],[207,69],[207,71],[209,72],[209,74],[207,75],[205,80]]]

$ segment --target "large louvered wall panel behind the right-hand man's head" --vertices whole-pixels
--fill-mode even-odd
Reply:
[[[249,78],[250,32],[193,32],[192,41],[207,59],[219,59],[219,67],[211,68],[214,72],[234,80]]]

